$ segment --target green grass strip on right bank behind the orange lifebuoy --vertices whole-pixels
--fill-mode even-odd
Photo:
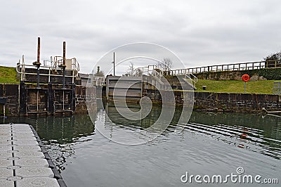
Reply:
[[[249,81],[246,83],[246,93],[266,93],[273,94],[273,82],[276,80],[266,81]],[[202,86],[207,86],[206,90],[202,89]],[[225,92],[225,93],[244,93],[244,82],[241,81],[211,81],[198,79],[195,85],[197,91],[209,91],[209,92]]]

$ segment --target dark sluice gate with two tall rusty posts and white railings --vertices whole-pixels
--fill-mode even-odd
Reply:
[[[40,63],[40,38],[37,61],[32,65],[18,63],[20,77],[20,115],[56,115],[75,112],[75,85],[78,83],[79,63],[76,58],[51,57]]]

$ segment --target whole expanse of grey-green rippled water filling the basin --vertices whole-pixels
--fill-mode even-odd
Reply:
[[[94,115],[112,136],[120,129],[135,131],[157,120],[159,108],[148,117],[127,124],[116,108]],[[7,118],[7,122],[32,124],[68,186],[279,186],[281,183],[281,118],[242,113],[192,112],[179,133],[180,110],[157,138],[139,146],[126,146],[105,138],[88,115],[72,117]],[[1,119],[4,122],[4,119]],[[107,128],[108,127],[108,128]],[[126,128],[125,128],[126,127]],[[189,174],[259,174],[277,178],[278,184],[182,183]]]

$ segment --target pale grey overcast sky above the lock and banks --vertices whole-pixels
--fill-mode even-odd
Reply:
[[[1,1],[0,65],[35,61],[37,37],[41,60],[61,56],[67,41],[84,73],[139,41],[170,49],[185,67],[259,61],[281,50],[280,10],[278,0]]]

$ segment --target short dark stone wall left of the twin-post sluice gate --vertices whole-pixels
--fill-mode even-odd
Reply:
[[[6,115],[18,115],[18,84],[0,84],[0,97],[7,98]],[[0,114],[3,115],[3,104],[0,104]]]

